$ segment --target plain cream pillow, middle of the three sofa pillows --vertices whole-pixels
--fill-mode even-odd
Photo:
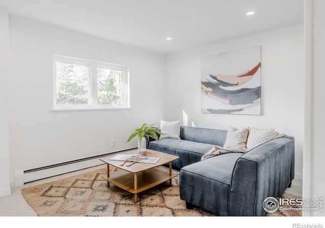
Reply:
[[[223,148],[246,148],[248,133],[248,127],[239,130],[229,126]]]

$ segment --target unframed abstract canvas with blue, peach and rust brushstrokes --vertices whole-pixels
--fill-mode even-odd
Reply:
[[[261,46],[201,58],[202,113],[261,115]]]

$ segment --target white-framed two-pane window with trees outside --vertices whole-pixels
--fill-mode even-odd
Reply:
[[[128,68],[54,56],[54,110],[128,108]]]

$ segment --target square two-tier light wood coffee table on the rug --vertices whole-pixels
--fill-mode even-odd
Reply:
[[[138,150],[130,150],[123,155],[140,155]],[[156,164],[147,163],[135,163],[132,166],[120,166],[123,162],[112,161],[110,158],[116,155],[111,155],[100,160],[107,164],[107,176],[103,176],[107,180],[107,187],[110,186],[110,182],[125,191],[134,194],[134,202],[138,202],[138,193],[145,191],[151,187],[154,187],[160,183],[169,180],[169,184],[172,186],[172,178],[176,176],[172,173],[172,161],[179,157],[161,153],[155,150],[147,149],[148,157],[159,157],[160,159]],[[169,172],[157,168],[158,166],[169,163]],[[110,165],[119,168],[119,170],[110,173]]]

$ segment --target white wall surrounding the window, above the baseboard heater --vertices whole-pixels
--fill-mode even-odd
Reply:
[[[133,128],[166,119],[165,55],[16,15],[9,39],[11,181],[17,170],[135,147],[125,143]],[[131,109],[51,112],[53,54],[129,66]]]

